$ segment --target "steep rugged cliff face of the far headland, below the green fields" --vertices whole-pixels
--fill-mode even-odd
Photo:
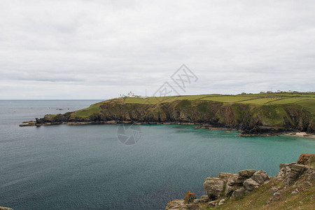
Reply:
[[[176,100],[159,104],[125,104],[112,99],[87,109],[36,119],[38,125],[69,122],[201,123],[230,127],[246,134],[315,132],[314,116],[297,104],[230,104],[202,100]]]

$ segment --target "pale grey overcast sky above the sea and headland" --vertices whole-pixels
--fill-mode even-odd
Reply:
[[[182,64],[195,75],[184,90],[172,80]],[[152,96],[165,82],[177,94],[315,91],[314,80],[315,1],[0,1],[0,99]]]

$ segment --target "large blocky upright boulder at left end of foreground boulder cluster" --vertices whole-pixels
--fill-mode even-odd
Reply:
[[[204,182],[204,189],[210,200],[217,200],[223,191],[224,181],[220,178],[207,178]]]

